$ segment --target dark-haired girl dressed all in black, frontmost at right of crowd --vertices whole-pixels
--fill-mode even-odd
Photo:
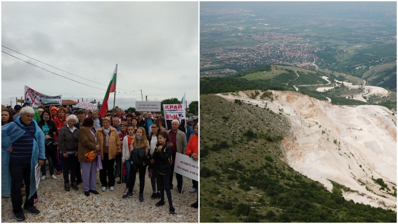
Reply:
[[[173,143],[170,143],[169,135],[167,132],[160,132],[158,135],[158,144],[155,148],[153,158],[155,162],[155,170],[159,179],[161,180],[161,190],[160,190],[160,201],[156,203],[156,207],[165,205],[165,190],[167,195],[167,200],[169,201],[169,212],[170,214],[175,214],[175,209],[173,207],[173,201],[171,198],[171,191],[169,185],[169,177],[171,171],[172,162],[172,146]]]

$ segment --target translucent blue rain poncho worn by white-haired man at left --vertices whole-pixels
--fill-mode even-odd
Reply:
[[[15,122],[21,124],[20,116],[16,118]],[[44,147],[44,133],[37,125],[35,120],[32,120],[36,126],[35,139],[33,139],[32,159],[30,161],[30,194],[31,198],[36,193],[36,178],[34,175],[34,167],[39,158],[46,159]],[[9,152],[8,149],[12,143],[20,138],[25,133],[25,130],[20,128],[16,123],[10,122],[1,126],[1,195],[10,197],[11,193],[11,175],[9,173]]]

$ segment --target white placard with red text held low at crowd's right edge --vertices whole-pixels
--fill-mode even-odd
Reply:
[[[199,181],[199,160],[193,160],[189,156],[178,153],[174,162],[174,172]]]

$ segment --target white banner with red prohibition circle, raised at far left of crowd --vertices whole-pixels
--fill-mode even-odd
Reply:
[[[25,86],[25,103],[36,111],[40,105],[62,105],[62,95],[47,96]]]

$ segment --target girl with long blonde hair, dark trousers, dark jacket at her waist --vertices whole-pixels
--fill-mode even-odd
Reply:
[[[144,187],[145,187],[145,171],[146,167],[149,163],[149,142],[146,138],[145,128],[138,127],[135,132],[135,138],[132,142],[132,150],[131,150],[131,167],[130,167],[130,176],[128,179],[129,188],[128,193],[123,195],[123,199],[127,199],[133,196],[133,188],[135,185],[135,173],[139,172],[140,179],[140,192],[139,192],[139,202],[144,201]],[[143,151],[145,151],[143,153]]]

